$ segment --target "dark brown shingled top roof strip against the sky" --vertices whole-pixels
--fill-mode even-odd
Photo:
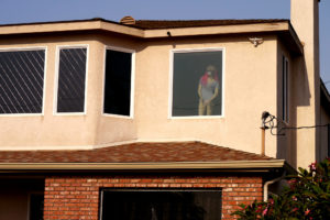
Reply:
[[[255,19],[255,20],[136,20],[134,26],[143,30],[155,29],[178,29],[178,28],[197,28],[197,26],[219,26],[234,24],[256,24],[256,23],[275,23],[285,22],[283,19]]]

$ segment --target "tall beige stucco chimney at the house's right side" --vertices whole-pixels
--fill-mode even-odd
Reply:
[[[297,127],[320,123],[319,12],[318,0],[292,0],[292,23],[304,42],[304,56],[295,59]],[[317,112],[317,113],[316,113]],[[319,129],[297,131],[297,165],[307,167],[317,160]]]

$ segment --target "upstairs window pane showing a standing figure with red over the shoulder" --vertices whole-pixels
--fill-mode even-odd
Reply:
[[[222,116],[222,50],[175,51],[172,116]]]

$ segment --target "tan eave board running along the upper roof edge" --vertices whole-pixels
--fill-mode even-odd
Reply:
[[[45,22],[29,24],[0,25],[0,36],[20,34],[43,34],[58,32],[94,32],[105,31],[124,34],[139,38],[183,37],[205,35],[229,35],[229,34],[265,34],[279,35],[296,54],[302,54],[302,44],[295,33],[289,21],[270,23],[231,24],[215,26],[175,28],[142,30],[101,19],[81,20],[69,22]]]

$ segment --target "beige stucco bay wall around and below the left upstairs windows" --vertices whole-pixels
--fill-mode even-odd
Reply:
[[[54,114],[56,46],[61,45],[88,46],[88,79],[85,100],[87,109],[85,114]],[[81,148],[100,143],[99,134],[107,135],[111,141],[135,138],[131,120],[105,119],[108,121],[108,127],[105,127],[105,120],[101,120],[103,45],[96,35],[12,37],[6,41],[0,40],[0,46],[1,48],[46,47],[44,112],[40,116],[0,116],[0,147],[3,150]],[[110,130],[109,127],[111,127]]]

